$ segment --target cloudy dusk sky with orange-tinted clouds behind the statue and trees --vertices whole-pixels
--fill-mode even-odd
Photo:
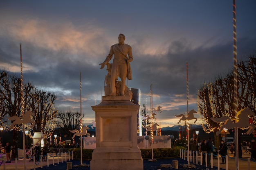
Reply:
[[[255,7],[236,1],[238,61],[256,50]],[[99,63],[119,33],[134,57],[128,87],[150,110],[153,84],[162,127],[187,111],[186,62],[189,110],[203,83],[233,69],[233,0],[1,0],[0,16],[0,68],[20,74],[21,43],[24,82],[56,94],[61,111],[80,111],[81,72],[84,124],[95,120],[107,74]]]

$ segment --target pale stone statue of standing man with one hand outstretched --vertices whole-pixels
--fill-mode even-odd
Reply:
[[[132,47],[128,44],[124,44],[124,34],[119,34],[118,44],[112,45],[110,52],[103,63],[100,63],[101,69],[110,61],[114,54],[111,77],[110,77],[110,96],[116,95],[115,80],[118,76],[121,78],[121,96],[125,96],[124,90],[126,87],[126,77],[128,80],[132,79],[130,62],[133,60]],[[128,57],[127,57],[128,54]]]

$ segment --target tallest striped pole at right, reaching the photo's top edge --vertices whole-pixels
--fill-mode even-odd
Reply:
[[[234,40],[234,111],[235,116],[237,116],[238,110],[238,99],[237,99],[237,59],[236,59],[236,0],[233,0],[233,40]],[[238,166],[238,128],[235,128],[235,142],[236,142],[236,170],[239,169]]]

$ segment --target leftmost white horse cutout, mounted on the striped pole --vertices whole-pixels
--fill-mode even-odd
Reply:
[[[15,126],[15,124],[26,124],[26,123],[31,123],[31,128],[35,126],[35,121],[31,120],[31,116],[35,116],[35,114],[32,111],[27,111],[26,113],[24,113],[24,115],[22,116],[22,118],[18,117],[18,116],[12,116],[10,118],[8,118],[9,120],[13,121],[10,128],[13,128]]]

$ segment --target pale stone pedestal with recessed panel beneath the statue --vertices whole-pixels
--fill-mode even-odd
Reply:
[[[128,96],[103,96],[92,106],[96,117],[96,148],[91,170],[143,170],[137,146],[137,113]]]

